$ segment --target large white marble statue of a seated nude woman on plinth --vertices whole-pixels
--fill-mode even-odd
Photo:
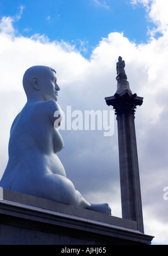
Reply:
[[[23,86],[27,103],[13,121],[8,146],[8,164],[0,187],[88,210],[111,214],[107,203],[88,203],[72,182],[57,152],[64,147],[54,122],[59,86],[56,72],[34,66],[25,72]],[[74,163],[75,164],[75,163]]]

